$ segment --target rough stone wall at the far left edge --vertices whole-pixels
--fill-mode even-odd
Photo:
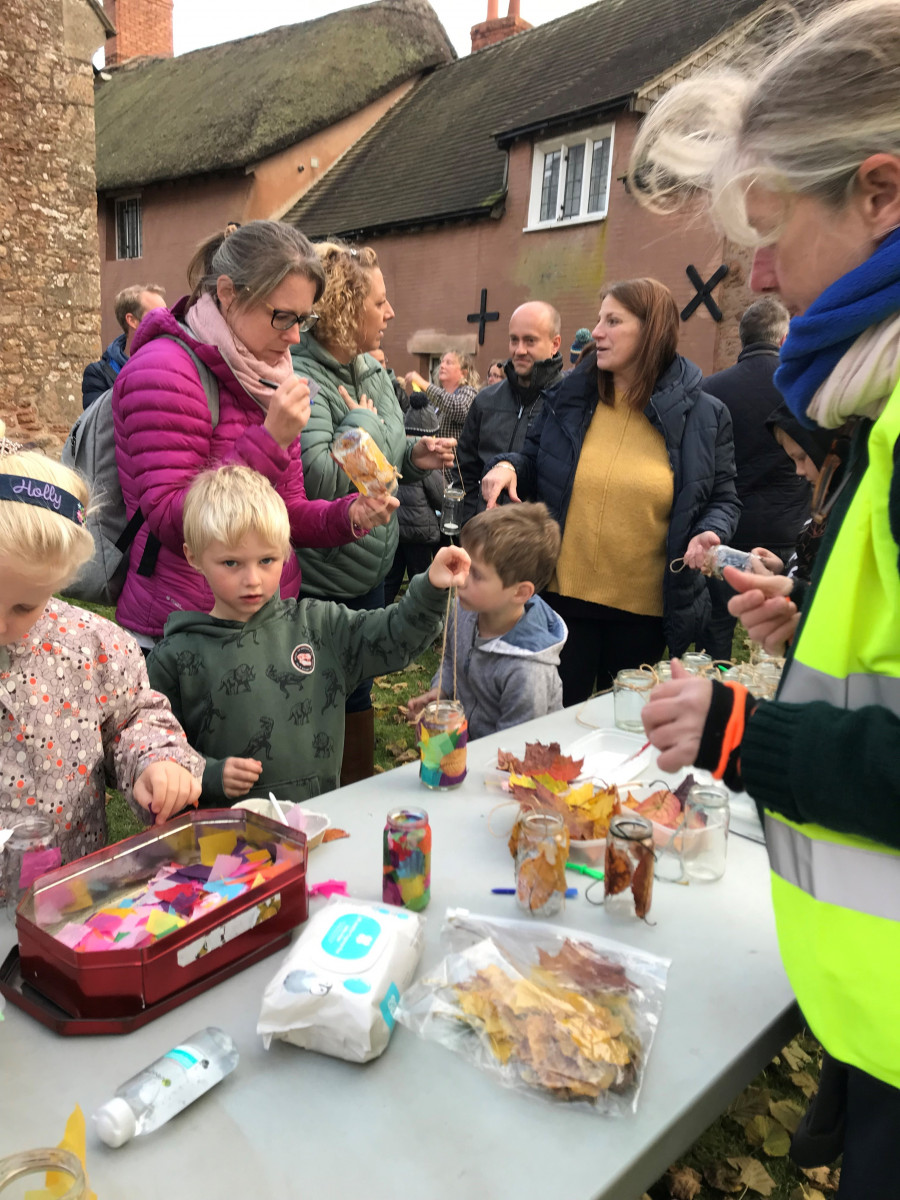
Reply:
[[[60,445],[100,344],[90,0],[4,0],[0,23],[0,416]]]

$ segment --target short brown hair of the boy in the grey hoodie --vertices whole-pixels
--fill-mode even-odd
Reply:
[[[559,524],[546,504],[504,504],[467,521],[460,545],[492,566],[504,588],[533,583],[542,592],[559,558]]]

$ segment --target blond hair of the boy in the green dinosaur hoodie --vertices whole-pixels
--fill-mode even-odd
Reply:
[[[185,545],[202,554],[212,541],[236,546],[256,534],[290,553],[290,520],[284,500],[272,485],[250,467],[228,464],[204,470],[185,499]]]

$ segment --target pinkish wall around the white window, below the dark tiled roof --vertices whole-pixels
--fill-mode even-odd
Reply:
[[[509,194],[499,220],[431,227],[415,233],[372,238],[388,283],[396,318],[388,326],[384,348],[397,373],[425,365],[416,352],[425,331],[446,335],[446,344],[478,326],[466,317],[479,306],[487,288],[487,307],[500,319],[488,324],[475,362],[484,376],[492,359],[508,356],[508,324],[512,310],[526,300],[547,300],[563,319],[563,355],[566,360],[575,331],[596,323],[598,293],[605,282],[650,275],[674,294],[679,310],[695,289],[685,266],[692,263],[703,278],[722,263],[736,266],[714,295],[727,322],[718,325],[704,306],[682,323],[679,350],[704,373],[733,362],[737,318],[751,299],[740,256],[731,247],[724,256],[722,239],[697,211],[659,217],[642,209],[625,191],[623,175],[634,140],[636,118],[616,119],[610,211],[605,221],[569,228],[523,233],[528,223],[532,146],[512,146]],[[727,301],[727,302],[726,302]],[[430,335],[431,336],[431,335]],[[432,338],[440,343],[440,336]]]

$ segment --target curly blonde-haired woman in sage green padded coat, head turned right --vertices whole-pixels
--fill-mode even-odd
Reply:
[[[325,292],[316,305],[316,325],[292,347],[294,373],[319,385],[302,433],[306,494],[334,500],[353,491],[331,457],[335,438],[364,428],[408,481],[452,463],[452,438],[407,438],[403,413],[384,367],[372,358],[394,310],[378,258],[367,246],[320,242]],[[384,578],[397,548],[397,518],[336,550],[301,550],[302,595],[338,600],[350,608],[380,608]],[[346,700],[347,724],[341,784],[373,774],[374,714],[372,680]]]

